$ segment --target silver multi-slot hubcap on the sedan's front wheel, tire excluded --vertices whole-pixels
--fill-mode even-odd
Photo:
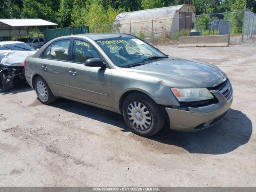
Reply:
[[[128,119],[138,130],[147,130],[151,125],[151,115],[144,104],[138,101],[131,102],[127,108]]]

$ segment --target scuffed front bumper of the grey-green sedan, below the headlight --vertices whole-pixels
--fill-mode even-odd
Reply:
[[[213,91],[212,94],[218,99],[218,103],[198,108],[189,107],[189,111],[166,107],[170,128],[179,131],[196,132],[222,120],[230,109],[233,95],[228,101],[219,91]]]

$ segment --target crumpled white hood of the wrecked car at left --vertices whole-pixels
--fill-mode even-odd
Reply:
[[[0,64],[5,66],[24,66],[24,60],[27,56],[32,55],[34,51],[14,51],[14,50],[1,50],[0,51]]]

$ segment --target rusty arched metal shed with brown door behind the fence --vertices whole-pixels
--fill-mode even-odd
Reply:
[[[118,14],[114,30],[128,34],[143,32],[146,36],[154,34],[159,38],[181,29],[191,29],[192,22],[196,23],[195,8],[184,4]]]

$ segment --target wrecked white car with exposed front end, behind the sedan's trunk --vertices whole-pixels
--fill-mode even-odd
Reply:
[[[15,81],[26,81],[24,60],[35,52],[35,48],[24,42],[0,42],[0,84],[4,91],[10,91]]]

